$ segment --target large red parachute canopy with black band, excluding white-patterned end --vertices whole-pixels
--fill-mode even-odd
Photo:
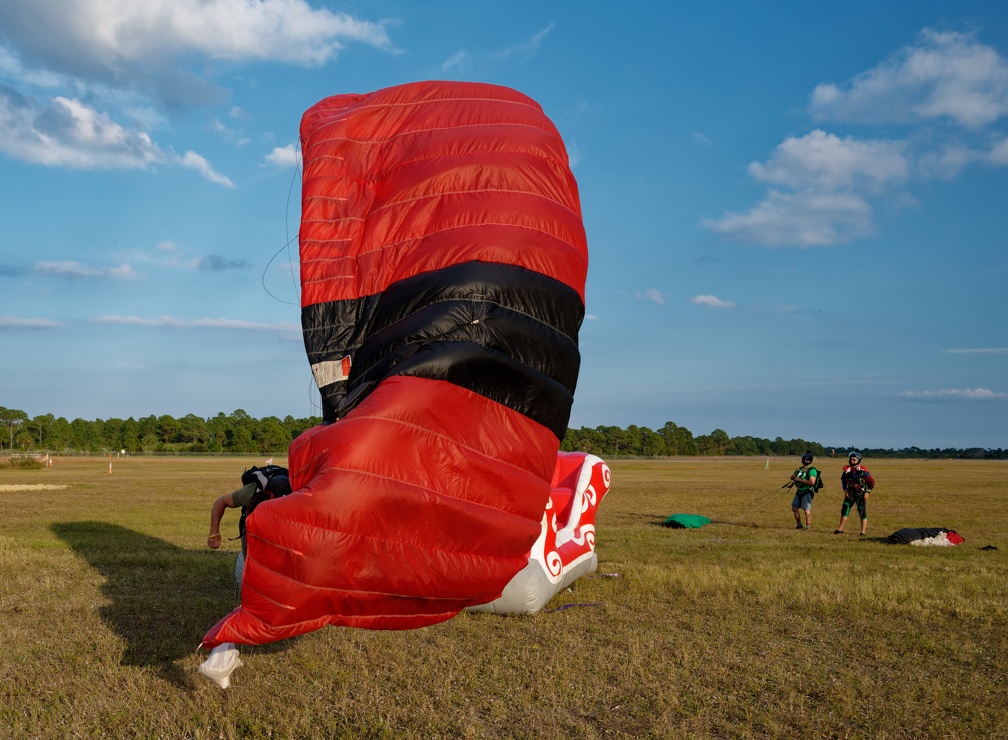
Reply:
[[[301,121],[304,346],[326,423],[247,522],[241,605],[204,639],[411,628],[502,593],[541,533],[580,366],[588,249],[555,127],[426,82]]]

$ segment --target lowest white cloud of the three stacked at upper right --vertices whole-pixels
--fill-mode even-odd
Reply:
[[[727,213],[703,225],[733,241],[770,247],[820,247],[844,244],[874,231],[871,207],[852,193],[779,193],[747,213]]]

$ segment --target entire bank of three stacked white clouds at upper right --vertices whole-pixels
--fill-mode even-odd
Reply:
[[[788,137],[748,166],[770,188],[763,199],[702,226],[769,247],[846,244],[875,234],[879,199],[898,209],[916,203],[904,190],[914,182],[951,179],[973,164],[1008,165],[1008,138],[989,130],[1008,114],[1008,61],[972,33],[924,30],[915,44],[844,85],[817,86],[809,111],[821,122],[909,130],[900,139],[891,129],[886,137],[869,131],[858,138],[823,127]]]

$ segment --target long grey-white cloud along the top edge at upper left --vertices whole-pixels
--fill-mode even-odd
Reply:
[[[77,77],[170,69],[182,56],[323,65],[347,41],[391,48],[383,23],[303,0],[32,0],[0,3],[21,52]]]

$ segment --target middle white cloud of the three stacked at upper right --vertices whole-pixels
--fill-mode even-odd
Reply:
[[[842,139],[816,129],[785,139],[765,164],[752,162],[749,172],[757,180],[797,190],[874,192],[907,178],[905,148],[903,142]]]

